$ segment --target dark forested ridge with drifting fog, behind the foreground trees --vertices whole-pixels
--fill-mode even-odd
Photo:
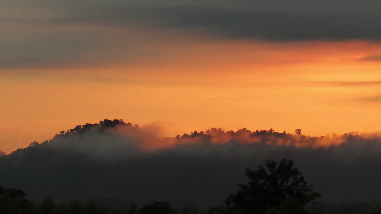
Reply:
[[[77,126],[0,158],[0,184],[28,198],[118,198],[215,205],[245,183],[247,167],[288,158],[323,201],[381,200],[377,134],[304,136],[212,128],[177,137],[122,120]]]

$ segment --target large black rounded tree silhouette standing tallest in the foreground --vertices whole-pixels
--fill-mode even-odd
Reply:
[[[240,190],[226,199],[227,208],[244,214],[257,214],[269,208],[278,209],[291,198],[304,205],[320,197],[320,193],[313,191],[312,185],[307,184],[293,164],[287,159],[279,164],[267,160],[258,170],[246,169],[249,182],[240,184]]]

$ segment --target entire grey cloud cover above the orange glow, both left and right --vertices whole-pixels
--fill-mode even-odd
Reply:
[[[379,41],[381,3],[339,2],[5,1],[0,3],[0,66],[141,62],[160,54],[150,56],[154,48],[147,43],[157,41],[139,35],[158,32],[219,40]]]

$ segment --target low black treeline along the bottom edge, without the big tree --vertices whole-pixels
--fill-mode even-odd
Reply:
[[[200,209],[196,205],[188,205],[174,209],[167,201],[154,201],[138,207],[134,204],[127,209],[115,208],[99,201],[72,200],[67,204],[56,204],[47,197],[40,203],[33,203],[24,198],[25,193],[16,189],[0,187],[2,214],[242,214],[240,211],[229,211],[224,206]],[[7,195],[10,194],[10,195]],[[12,198],[10,198],[12,197]],[[295,201],[286,201],[280,209],[269,209],[265,214],[379,214],[381,204],[378,203],[342,203],[342,204],[309,204],[301,209]],[[296,205],[296,206],[295,206]]]

